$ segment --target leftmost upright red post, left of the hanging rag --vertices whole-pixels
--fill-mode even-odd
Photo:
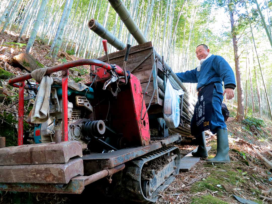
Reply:
[[[24,82],[19,83],[19,107],[18,107],[18,146],[23,145],[24,128]]]

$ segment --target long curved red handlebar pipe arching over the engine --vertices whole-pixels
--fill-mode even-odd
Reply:
[[[66,69],[70,69],[72,67],[78,67],[78,66],[82,66],[82,65],[95,65],[95,66],[98,66],[98,67],[102,67],[102,68],[104,68],[106,70],[111,70],[112,69],[112,67],[109,64],[104,63],[104,62],[102,62],[100,60],[83,59],[83,60],[76,60],[76,61],[67,62],[67,63],[64,63],[64,64],[59,64],[59,65],[54,66],[54,67],[49,67],[45,74],[47,75],[47,74],[51,74],[53,72],[58,72],[58,71],[62,71],[62,70],[66,70]],[[124,76],[123,70],[119,66],[116,66],[116,72],[117,72],[118,75]],[[126,76],[128,76],[128,73],[126,74]],[[32,76],[31,76],[30,73],[26,74],[26,75],[23,75],[23,76],[17,76],[15,78],[10,79],[8,81],[8,84],[10,86],[18,87],[14,83],[22,82],[22,81],[25,81],[27,79],[32,79]]]

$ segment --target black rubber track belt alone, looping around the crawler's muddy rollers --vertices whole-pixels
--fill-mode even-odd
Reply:
[[[143,165],[146,162],[156,159],[157,157],[160,157],[169,152],[173,152],[174,154],[178,155],[175,159],[175,166],[177,166],[177,169],[173,173],[174,175],[177,175],[180,169],[180,150],[178,149],[178,147],[175,146],[164,147],[162,149],[144,154],[143,156],[137,157],[134,160],[128,162],[128,164],[126,164],[127,169],[125,173],[125,181],[123,184],[124,187],[126,188],[126,191],[123,191],[122,197],[135,203],[156,202],[157,200],[156,191],[153,193],[154,197],[152,196],[151,199],[148,199],[143,195],[141,187],[141,171]],[[168,179],[165,181],[164,186],[161,185],[158,189],[163,190],[164,188],[166,188],[167,183],[172,182],[170,180],[173,181],[174,179],[171,178],[171,176],[168,177]]]

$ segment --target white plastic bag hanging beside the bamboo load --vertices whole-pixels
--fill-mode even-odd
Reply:
[[[175,90],[168,79],[163,104],[163,117],[168,128],[176,128],[180,124],[180,95],[182,94],[184,92],[181,89]]]

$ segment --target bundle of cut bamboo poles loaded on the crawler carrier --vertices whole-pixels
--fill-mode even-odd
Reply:
[[[120,19],[125,24],[126,28],[128,29],[129,33],[135,38],[138,44],[143,44],[147,42],[147,39],[144,37],[141,30],[138,28],[136,23],[131,17],[128,9],[125,7],[124,3],[121,0],[109,0],[112,7],[115,9],[116,13],[119,15]],[[116,36],[110,33],[106,28],[104,28],[100,23],[98,23],[95,19],[91,19],[88,24],[89,28],[94,31],[97,35],[101,38],[106,39],[109,44],[115,47],[118,50],[123,50],[125,48],[125,44],[120,41]],[[162,57],[154,50],[155,58],[159,60],[160,65],[162,66]],[[177,128],[171,128],[171,132],[173,133],[180,133],[182,135],[191,135],[190,131],[190,121],[193,116],[194,105],[189,101],[188,91],[177,75],[172,72],[171,67],[168,66],[166,62],[164,62],[165,68],[168,71],[169,77],[168,80],[170,81],[171,85],[174,89],[182,89],[184,91],[183,97],[183,112],[181,117],[180,126]],[[157,85],[158,85],[158,92],[159,97],[164,99],[164,81],[161,72],[158,72],[157,76]],[[181,100],[180,100],[181,103]]]

